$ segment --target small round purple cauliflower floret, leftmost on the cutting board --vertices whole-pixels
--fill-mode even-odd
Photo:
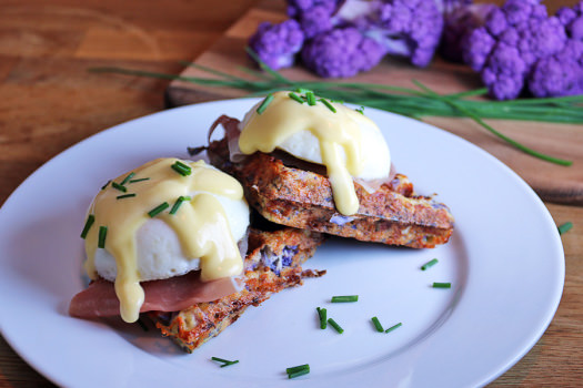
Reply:
[[[303,47],[304,34],[300,24],[285,20],[279,24],[263,22],[249,39],[249,47],[270,68],[278,70],[294,63],[295,54]]]

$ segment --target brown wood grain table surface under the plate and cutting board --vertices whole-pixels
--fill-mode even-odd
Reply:
[[[0,205],[28,175],[67,147],[165,108],[169,81],[104,76],[88,68],[180,73],[180,60],[203,53],[255,3],[0,0]],[[573,1],[546,3],[555,9]],[[492,387],[582,386],[583,207],[545,204],[556,224],[574,225],[562,236],[563,297],[540,341]],[[0,337],[0,387],[38,386],[52,384]]]

